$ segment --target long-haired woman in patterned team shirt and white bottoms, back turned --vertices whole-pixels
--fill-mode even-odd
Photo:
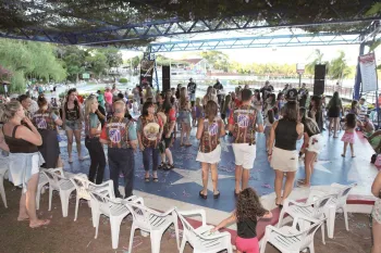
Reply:
[[[200,140],[196,161],[200,162],[202,167],[204,188],[199,192],[199,197],[206,200],[208,197],[209,166],[213,182],[213,198],[218,199],[220,197],[218,190],[217,165],[221,161],[220,138],[225,136],[225,126],[222,119],[217,115],[218,105],[214,101],[208,101],[205,107],[205,114],[206,116],[200,121],[200,124],[198,124],[196,134],[196,138]]]

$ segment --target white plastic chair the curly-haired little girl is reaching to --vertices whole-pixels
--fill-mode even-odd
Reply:
[[[180,220],[183,224],[183,240],[180,246],[180,252],[183,253],[186,242],[193,246],[194,253],[216,253],[226,250],[228,253],[233,253],[230,232],[216,231],[210,233],[213,226],[206,224],[206,214],[204,210],[194,211],[176,211]],[[200,215],[202,225],[194,228],[185,219],[185,216]]]

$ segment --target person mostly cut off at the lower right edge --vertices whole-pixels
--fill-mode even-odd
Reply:
[[[372,211],[372,232],[373,232],[373,248],[371,253],[381,252],[381,172],[377,175],[371,187],[373,195],[377,198]]]

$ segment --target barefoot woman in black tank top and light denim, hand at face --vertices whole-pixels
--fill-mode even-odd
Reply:
[[[38,172],[44,163],[37,147],[42,144],[42,138],[19,101],[0,105],[0,121],[5,122],[0,131],[0,148],[10,152],[13,184],[23,185],[17,220],[28,220],[32,228],[48,225],[49,219],[39,219],[36,214]]]

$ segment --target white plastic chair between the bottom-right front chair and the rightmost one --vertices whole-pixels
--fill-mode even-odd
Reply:
[[[279,216],[278,228],[282,226],[282,222],[285,214],[288,214],[291,217],[295,218],[296,216],[315,218],[318,220],[325,219],[327,215],[327,206],[329,205],[332,195],[322,197],[312,203],[299,203],[296,201],[292,201],[285,199],[283,202],[283,208]],[[305,224],[300,224],[302,227],[305,227]],[[321,237],[323,244],[325,244],[325,236],[324,236],[324,226],[321,227]]]

